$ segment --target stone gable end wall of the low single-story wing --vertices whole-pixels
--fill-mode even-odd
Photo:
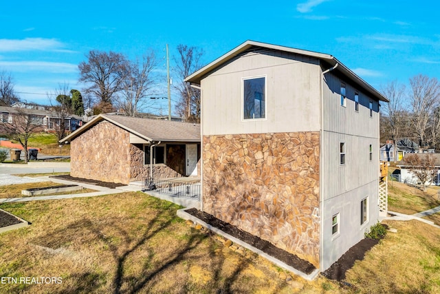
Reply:
[[[71,176],[121,182],[130,180],[129,132],[102,121],[71,142]]]

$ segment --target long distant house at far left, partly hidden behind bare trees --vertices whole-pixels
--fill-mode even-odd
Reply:
[[[0,123],[12,123],[13,116],[22,112],[24,114],[29,114],[32,118],[32,123],[35,125],[41,125],[41,129],[45,132],[54,131],[59,128],[61,118],[56,112],[30,107],[21,108],[17,106],[17,103],[15,104],[16,106],[14,107],[0,106]],[[83,119],[74,114],[70,114],[65,117],[64,120],[66,121],[66,131],[68,132],[74,132],[78,127],[83,125]]]

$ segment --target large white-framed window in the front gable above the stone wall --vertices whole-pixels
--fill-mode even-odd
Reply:
[[[265,77],[243,79],[243,118],[265,117]]]

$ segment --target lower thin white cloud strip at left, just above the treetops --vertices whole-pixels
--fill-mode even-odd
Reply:
[[[0,61],[0,67],[13,72],[77,72],[78,65],[47,61]]]

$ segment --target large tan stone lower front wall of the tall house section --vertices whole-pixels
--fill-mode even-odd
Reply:
[[[319,267],[319,132],[203,136],[203,211]]]

